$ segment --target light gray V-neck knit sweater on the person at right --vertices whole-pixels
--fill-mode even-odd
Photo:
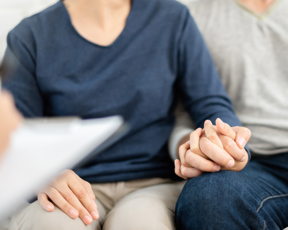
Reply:
[[[288,1],[275,0],[261,15],[237,0],[200,0],[188,6],[237,116],[252,132],[251,152],[287,152]],[[178,126],[184,123],[178,120]],[[173,135],[171,141],[177,142],[179,135]]]

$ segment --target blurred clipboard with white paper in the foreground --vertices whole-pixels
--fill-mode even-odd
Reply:
[[[0,218],[12,214],[64,169],[75,170],[121,139],[121,116],[26,119],[0,162]]]

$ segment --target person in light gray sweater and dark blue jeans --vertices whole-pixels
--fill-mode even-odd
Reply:
[[[190,149],[191,142],[205,132],[194,131],[178,110],[170,137],[174,159],[177,145],[192,134],[180,147],[182,164],[175,160],[176,174],[191,178],[177,201],[177,229],[283,229],[288,226],[288,2],[200,0],[189,8],[237,116],[251,130],[251,160],[240,172],[205,173],[193,165],[191,155],[203,148]]]

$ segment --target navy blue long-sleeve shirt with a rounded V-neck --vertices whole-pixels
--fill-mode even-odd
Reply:
[[[188,9],[134,0],[109,46],[83,38],[61,1],[9,33],[3,86],[25,117],[122,115],[128,134],[76,171],[89,182],[174,177],[167,140],[180,95],[194,123],[240,125]],[[41,154],[41,153],[39,153]],[[49,156],[47,156],[49,157]]]

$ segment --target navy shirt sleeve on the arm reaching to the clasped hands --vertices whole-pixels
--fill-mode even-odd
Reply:
[[[177,92],[195,128],[203,128],[207,119],[215,125],[217,118],[230,126],[242,126],[188,9],[179,41],[178,74]]]

